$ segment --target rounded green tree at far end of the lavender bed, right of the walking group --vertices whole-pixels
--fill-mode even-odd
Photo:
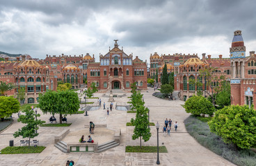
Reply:
[[[214,106],[209,100],[198,95],[193,95],[186,100],[184,107],[187,113],[192,113],[195,116],[200,116],[201,113],[212,116],[215,111]]]

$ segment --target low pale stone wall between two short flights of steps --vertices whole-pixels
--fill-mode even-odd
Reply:
[[[97,153],[97,149],[98,149],[97,142],[67,144],[67,153],[72,153],[72,152],[94,152],[94,153]]]

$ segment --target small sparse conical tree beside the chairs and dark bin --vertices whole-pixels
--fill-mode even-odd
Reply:
[[[45,121],[38,120],[38,118],[35,117],[40,117],[40,114],[35,112],[31,109],[30,106],[27,106],[24,111],[25,115],[21,115],[18,118],[18,122],[22,122],[26,124],[26,126],[22,127],[22,129],[18,129],[18,131],[15,131],[13,136],[15,138],[22,136],[22,138],[29,138],[29,142],[31,138],[35,138],[36,136],[39,135],[39,133],[35,132],[38,130],[38,126],[45,123]],[[30,146],[30,143],[29,143]]]

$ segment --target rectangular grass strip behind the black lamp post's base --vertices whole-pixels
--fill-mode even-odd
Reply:
[[[125,152],[157,153],[157,147],[152,146],[126,146]],[[168,153],[165,146],[159,147],[159,153]]]

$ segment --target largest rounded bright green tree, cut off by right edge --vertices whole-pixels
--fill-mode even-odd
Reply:
[[[229,106],[216,111],[208,122],[211,132],[241,149],[256,148],[256,111],[248,105]]]

